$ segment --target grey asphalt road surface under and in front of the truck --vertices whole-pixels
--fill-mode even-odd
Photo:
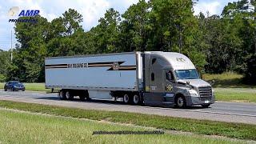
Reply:
[[[3,91],[0,90],[0,100],[15,102],[30,102],[53,106],[75,107],[87,110],[126,111],[141,114],[156,114],[178,118],[206,119],[221,122],[239,122],[256,125],[256,103],[244,102],[216,102],[210,108],[193,106],[187,109],[174,109],[151,106],[130,106],[122,102],[93,100],[90,102],[61,101],[57,94],[45,94],[30,91]]]

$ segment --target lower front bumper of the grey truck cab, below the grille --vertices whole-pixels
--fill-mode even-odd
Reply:
[[[191,97],[186,96],[186,106],[193,106],[193,105],[208,105],[213,104],[215,102],[215,97]]]

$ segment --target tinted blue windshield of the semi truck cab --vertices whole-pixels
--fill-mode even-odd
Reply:
[[[175,70],[177,79],[199,79],[197,70]]]

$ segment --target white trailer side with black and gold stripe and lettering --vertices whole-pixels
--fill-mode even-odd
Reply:
[[[138,90],[136,53],[46,58],[46,88]]]

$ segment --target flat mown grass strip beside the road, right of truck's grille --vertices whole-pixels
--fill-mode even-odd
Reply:
[[[256,89],[249,88],[214,88],[218,101],[256,102]]]

